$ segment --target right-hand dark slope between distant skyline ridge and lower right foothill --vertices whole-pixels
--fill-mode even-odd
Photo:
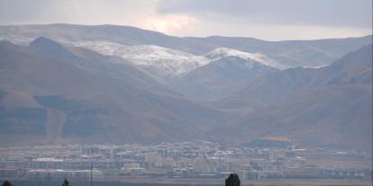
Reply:
[[[218,105],[231,104],[237,108],[248,105],[270,106],[287,101],[296,93],[327,85],[371,84],[371,45],[351,52],[331,66],[320,68],[290,68],[265,75],[240,93]]]

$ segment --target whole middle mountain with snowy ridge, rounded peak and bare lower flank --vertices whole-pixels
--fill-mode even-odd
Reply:
[[[123,45],[109,41],[72,44],[125,58],[174,91],[203,100],[220,99],[237,92],[260,75],[285,68],[266,55],[228,48],[193,55],[155,45]]]

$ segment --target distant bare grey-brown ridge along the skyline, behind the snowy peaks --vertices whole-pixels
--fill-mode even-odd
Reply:
[[[156,31],[118,25],[86,26],[57,23],[0,26],[0,40],[28,45],[40,36],[59,42],[63,40],[68,42],[101,40],[114,45],[155,45],[194,55],[204,55],[219,48],[236,49],[242,52],[259,53],[276,59],[286,68],[330,65],[335,59],[341,58],[350,51],[368,45],[372,37],[369,35],[349,39],[268,41],[221,36],[179,38]]]

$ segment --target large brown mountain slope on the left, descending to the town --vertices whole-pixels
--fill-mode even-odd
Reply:
[[[198,127],[199,122],[214,125],[223,120],[219,111],[161,86],[146,86],[154,82],[133,66],[107,65],[113,64],[107,60],[121,59],[104,60],[80,49],[68,54],[76,60],[51,58],[35,52],[34,47],[0,42],[0,137],[6,143],[181,140],[201,137],[205,128]],[[46,46],[41,42],[38,47]],[[97,55],[100,58],[94,58]],[[112,69],[117,71],[112,73]]]

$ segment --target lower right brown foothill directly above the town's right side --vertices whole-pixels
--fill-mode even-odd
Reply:
[[[323,87],[299,93],[277,106],[251,111],[214,133],[224,141],[234,134],[231,142],[289,137],[302,145],[368,152],[372,145],[371,95],[371,87],[364,85]]]

